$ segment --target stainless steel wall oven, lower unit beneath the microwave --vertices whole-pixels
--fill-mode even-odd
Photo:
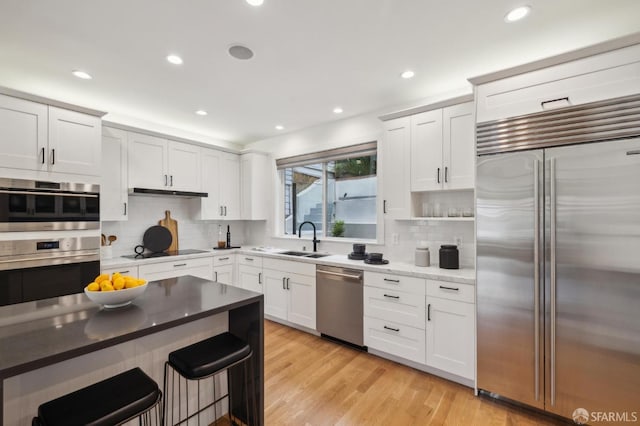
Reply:
[[[99,236],[0,241],[0,306],[81,293],[99,273]]]

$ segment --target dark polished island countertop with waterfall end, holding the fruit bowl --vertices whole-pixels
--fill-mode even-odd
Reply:
[[[264,424],[263,295],[192,276],[150,282],[122,308],[104,309],[84,293],[0,307],[0,399],[9,377],[225,312],[229,331],[252,346]],[[236,380],[231,373],[234,388]]]

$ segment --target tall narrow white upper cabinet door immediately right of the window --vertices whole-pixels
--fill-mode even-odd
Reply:
[[[411,182],[409,118],[386,121],[382,142],[384,213],[394,219],[408,219]]]

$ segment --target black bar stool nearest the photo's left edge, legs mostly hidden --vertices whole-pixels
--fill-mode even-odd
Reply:
[[[158,384],[141,369],[94,383],[38,407],[33,426],[113,426],[139,419],[150,425],[155,408],[155,424],[161,423],[158,403],[162,392]]]

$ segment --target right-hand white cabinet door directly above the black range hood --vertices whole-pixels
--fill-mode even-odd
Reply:
[[[168,142],[169,187],[177,191],[199,192],[200,147],[181,142]]]

